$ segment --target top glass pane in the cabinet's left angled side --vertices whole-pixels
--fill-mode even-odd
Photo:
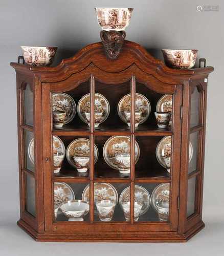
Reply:
[[[30,84],[24,90],[24,123],[33,126],[33,92]]]

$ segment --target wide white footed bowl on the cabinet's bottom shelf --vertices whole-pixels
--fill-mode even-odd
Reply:
[[[89,204],[83,200],[70,200],[60,206],[64,216],[69,221],[83,221],[83,216],[88,214]]]

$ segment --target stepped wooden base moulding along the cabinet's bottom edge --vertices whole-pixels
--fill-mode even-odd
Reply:
[[[25,230],[35,241],[39,242],[132,242],[132,243],[141,243],[141,242],[187,242],[192,238],[197,232],[205,227],[203,221],[198,222],[194,227],[188,230],[184,234],[178,234],[177,232],[119,232],[114,233],[104,233],[97,234],[88,233],[88,234],[73,234],[72,232],[68,233],[56,233],[46,231],[46,233],[37,233],[32,227],[30,227],[23,220],[19,220],[17,225]]]

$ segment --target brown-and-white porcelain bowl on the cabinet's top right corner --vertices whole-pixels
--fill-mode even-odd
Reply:
[[[173,69],[191,69],[197,58],[196,49],[162,49],[165,63]]]

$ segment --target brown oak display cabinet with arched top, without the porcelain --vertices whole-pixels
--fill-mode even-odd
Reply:
[[[140,45],[125,41],[116,60],[107,59],[101,42],[64,59],[57,67],[32,67],[12,62],[16,70],[18,110],[18,152],[20,184],[20,220],[23,228],[37,241],[104,241],[104,242],[184,242],[205,225],[201,220],[203,199],[207,79],[212,67],[175,70],[153,58]],[[52,94],[65,92],[76,104],[86,93],[91,95],[90,127],[75,118],[62,129],[53,128]],[[104,95],[110,114],[99,127],[94,127],[94,94]],[[117,113],[119,100],[131,94],[131,126]],[[147,121],[135,127],[136,93],[150,101]],[[165,94],[172,95],[172,125],[158,129],[154,118],[156,104]],[[53,172],[53,136],[65,147],[75,138],[90,139],[90,169],[80,175],[63,160],[59,174]],[[126,135],[131,141],[130,175],[122,176],[103,158],[105,141],[114,135]],[[171,172],[161,166],[155,155],[156,146],[171,136]],[[28,147],[34,141],[34,159]],[[135,164],[135,140],[140,158]],[[94,165],[94,143],[99,158]],[[193,148],[189,162],[189,144]],[[83,222],[69,222],[62,214],[54,218],[54,183],[70,184],[76,199],[81,199],[90,186],[89,214]],[[113,184],[118,191],[130,186],[130,221],[125,221],[117,204],[110,222],[101,222],[94,214],[94,183]],[[148,193],[159,184],[170,184],[169,218],[160,221],[152,205],[134,220],[135,185]]]

